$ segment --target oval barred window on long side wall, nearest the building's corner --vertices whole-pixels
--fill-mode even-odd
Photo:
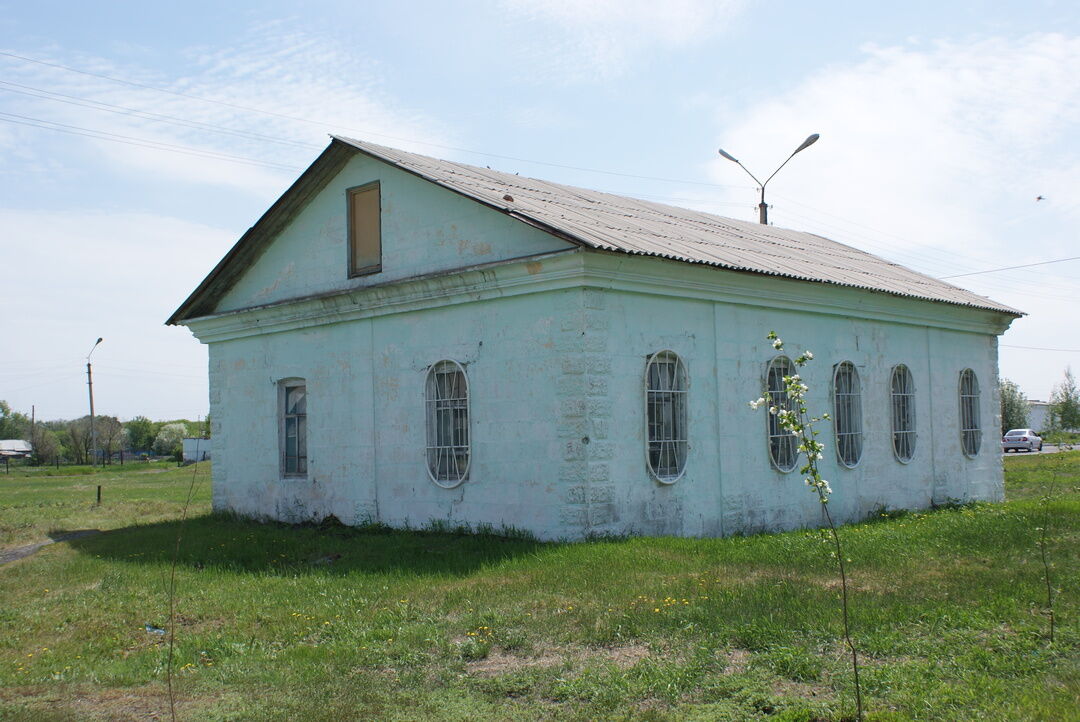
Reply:
[[[686,366],[661,351],[645,367],[645,408],[649,426],[649,472],[674,483],[686,469]]]

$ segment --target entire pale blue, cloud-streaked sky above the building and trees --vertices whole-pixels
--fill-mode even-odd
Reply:
[[[205,413],[162,324],[328,133],[743,219],[717,148],[762,177],[820,133],[778,226],[935,276],[1080,256],[1075,2],[159,4],[0,2],[0,398],[40,418],[99,336],[99,413]],[[953,281],[1028,312],[1029,397],[1080,370],[1078,276]]]

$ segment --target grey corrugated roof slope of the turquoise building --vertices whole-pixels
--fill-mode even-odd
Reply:
[[[734,271],[944,301],[1023,315],[1008,305],[813,233],[442,161],[335,136],[434,183],[584,246]],[[513,200],[508,201],[505,196]]]

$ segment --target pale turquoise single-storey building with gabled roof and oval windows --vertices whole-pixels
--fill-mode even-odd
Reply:
[[[747,407],[788,368],[770,330],[816,356],[834,515],[1000,499],[1018,315],[810,233],[334,138],[167,323],[210,348],[215,508],[581,539],[822,522]]]

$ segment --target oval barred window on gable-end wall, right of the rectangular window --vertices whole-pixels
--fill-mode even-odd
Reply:
[[[469,381],[461,364],[441,360],[428,369],[428,474],[450,489],[469,478]]]

